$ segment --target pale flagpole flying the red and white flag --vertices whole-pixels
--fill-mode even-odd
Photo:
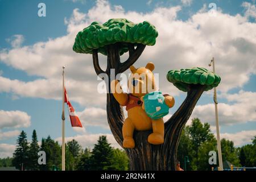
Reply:
[[[61,169],[62,171],[65,171],[65,111],[64,111],[64,102],[65,102],[65,97],[64,97],[64,69],[65,67],[63,66],[63,72],[62,72],[62,77],[63,77],[63,82],[62,82],[62,155],[61,155]]]

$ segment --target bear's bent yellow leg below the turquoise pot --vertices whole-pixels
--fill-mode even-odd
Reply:
[[[163,118],[152,120],[153,133],[148,135],[148,142],[151,144],[162,144],[164,142]]]

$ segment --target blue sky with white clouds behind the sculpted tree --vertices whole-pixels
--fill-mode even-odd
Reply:
[[[46,5],[46,16],[38,16],[39,3]],[[66,141],[74,138],[82,147],[92,147],[106,135],[118,147],[106,120],[106,95],[97,92],[100,80],[92,55],[72,50],[77,32],[110,18],[147,20],[158,30],[155,46],[147,46],[134,66],[152,61],[159,89],[174,96],[175,106],[165,120],[186,96],[166,80],[166,73],[212,69],[208,64],[214,57],[222,78],[217,87],[221,138],[235,146],[251,142],[256,135],[255,1],[0,0],[0,158],[12,156],[22,130],[29,141],[34,129],[39,142],[48,135],[61,141],[63,65],[69,100],[84,126],[72,128],[66,108]],[[99,59],[106,67],[106,57]],[[203,93],[187,125],[195,117],[216,133],[213,90]]]

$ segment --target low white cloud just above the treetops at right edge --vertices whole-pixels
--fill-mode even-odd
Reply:
[[[234,142],[234,146],[243,146],[249,144],[256,135],[256,130],[240,131],[238,133],[222,133],[221,138],[226,138]]]

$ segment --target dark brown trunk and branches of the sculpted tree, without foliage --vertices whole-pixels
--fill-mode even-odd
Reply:
[[[110,71],[115,69],[114,77],[118,73],[126,71],[141,55],[144,45],[139,44],[136,49],[129,45],[129,59],[121,63],[118,44],[108,46],[108,66],[106,71],[102,71],[98,64],[97,50],[93,52],[93,65],[97,75],[106,73],[108,80],[106,84],[110,91]],[[203,85],[189,85],[187,97],[179,109],[172,117],[164,124],[164,143],[161,145],[153,145],[147,142],[147,137],[152,133],[148,131],[135,131],[134,140],[135,148],[124,148],[129,159],[131,170],[176,170],[177,147],[181,130],[187,123],[197,101],[204,92]],[[115,100],[112,93],[107,93],[106,111],[108,115],[108,123],[112,134],[122,146],[122,125],[124,121],[123,109]]]

